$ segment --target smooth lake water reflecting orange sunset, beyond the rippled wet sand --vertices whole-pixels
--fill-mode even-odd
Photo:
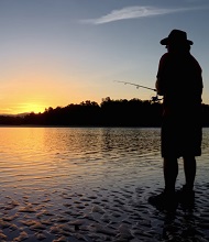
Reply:
[[[0,128],[1,188],[106,184],[118,176],[140,182],[161,173],[160,135],[160,129]],[[204,129],[200,169],[208,170],[207,157]]]

